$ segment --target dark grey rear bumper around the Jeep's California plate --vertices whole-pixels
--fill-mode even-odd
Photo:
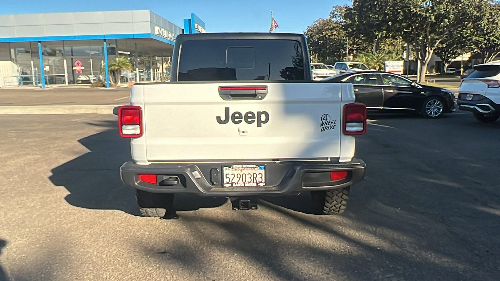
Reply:
[[[244,163],[203,162],[138,165],[133,162],[125,162],[120,167],[120,176],[124,183],[153,193],[197,193],[208,196],[282,195],[348,186],[364,177],[365,167],[365,163],[360,159],[352,159],[350,162],[342,163],[331,161],[265,162],[261,164],[265,165],[266,169],[266,186],[222,187],[220,182],[213,184],[211,171],[214,168],[221,171],[222,166],[232,164]],[[329,172],[334,170],[347,171],[347,177],[330,181]],[[137,174],[156,174],[159,178],[177,176],[180,182],[171,186],[161,186],[158,183],[143,182]]]

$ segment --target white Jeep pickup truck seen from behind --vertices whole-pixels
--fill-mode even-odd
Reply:
[[[145,216],[177,218],[175,193],[259,196],[311,192],[312,210],[339,214],[364,176],[354,135],[366,108],[350,83],[312,81],[301,34],[181,34],[169,82],[136,83],[118,109],[132,159],[121,179]]]

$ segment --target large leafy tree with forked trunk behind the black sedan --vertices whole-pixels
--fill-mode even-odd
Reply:
[[[459,26],[462,0],[353,0],[344,17],[346,28],[364,39],[392,38],[409,43],[421,64],[420,81],[444,38]]]

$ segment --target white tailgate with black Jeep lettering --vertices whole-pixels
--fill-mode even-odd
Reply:
[[[342,95],[338,83],[136,86],[144,87],[144,103],[136,105],[144,108],[148,161],[339,157]],[[223,99],[220,86],[260,86],[266,94],[260,99],[251,94],[249,99]]]

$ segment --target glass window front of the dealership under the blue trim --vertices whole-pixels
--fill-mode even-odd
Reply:
[[[117,79],[121,82],[167,80],[171,57],[164,55],[171,55],[171,49],[168,49],[171,46],[154,49],[149,40],[152,39],[106,39],[107,50],[104,50],[103,40],[41,41],[41,69],[37,41],[0,43],[0,60],[15,63],[18,74],[26,75],[23,79],[33,79],[30,75],[43,72],[45,83],[49,85],[88,84],[105,81],[106,51],[108,62],[123,56],[132,64],[131,70],[121,71],[121,77],[110,73],[115,75],[110,82]]]

